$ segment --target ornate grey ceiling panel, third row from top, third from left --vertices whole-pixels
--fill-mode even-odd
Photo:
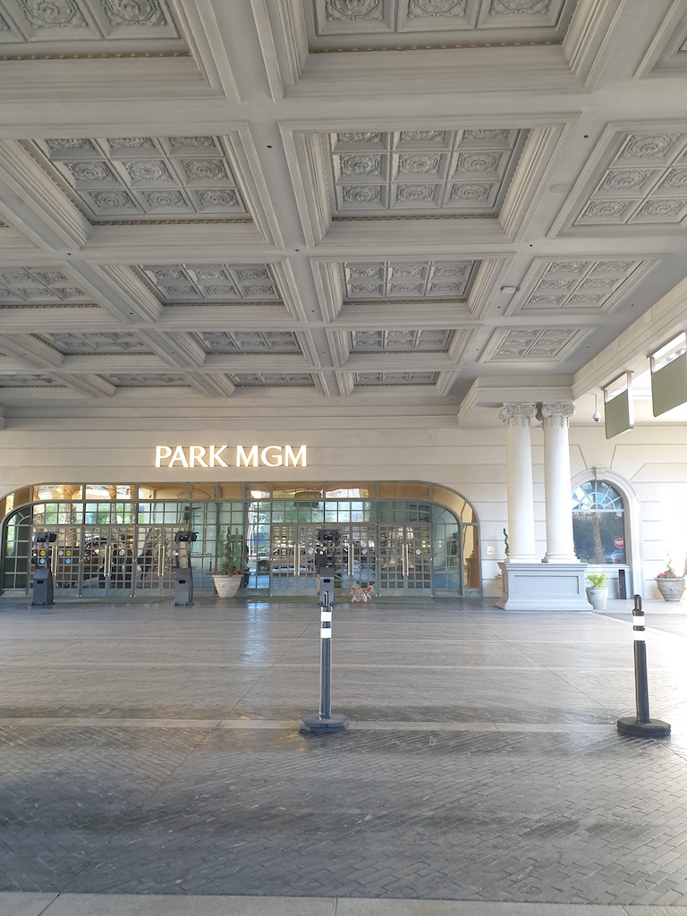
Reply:
[[[345,263],[347,301],[467,300],[480,261]]]

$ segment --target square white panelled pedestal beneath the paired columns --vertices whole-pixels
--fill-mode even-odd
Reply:
[[[500,562],[496,607],[504,611],[591,611],[584,586],[586,564]]]

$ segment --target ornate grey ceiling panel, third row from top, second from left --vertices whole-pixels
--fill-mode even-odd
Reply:
[[[180,264],[137,267],[158,300],[171,302],[280,302],[267,264]]]

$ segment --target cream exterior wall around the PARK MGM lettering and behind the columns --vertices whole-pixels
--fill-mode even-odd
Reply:
[[[496,595],[496,562],[503,559],[507,525],[505,433],[459,428],[453,417],[417,413],[406,418],[256,418],[250,425],[228,419],[72,420],[15,423],[0,432],[0,496],[38,483],[202,483],[420,480],[448,486],[477,512],[485,594]],[[18,427],[18,428],[17,428]],[[270,443],[308,447],[307,468],[155,468],[158,444]],[[229,451],[229,450],[228,450]],[[543,447],[532,430],[535,524],[540,555],[546,550]],[[657,597],[653,577],[668,551],[681,565],[687,551],[687,428],[644,427],[607,442],[603,427],[571,429],[573,480],[594,466],[625,489],[632,505],[632,556],[643,570],[643,594]],[[612,476],[611,476],[612,475]],[[488,549],[493,548],[493,554]],[[682,572],[682,570],[681,570]],[[635,588],[639,582],[636,579]]]

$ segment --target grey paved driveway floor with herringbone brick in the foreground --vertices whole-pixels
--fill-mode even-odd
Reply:
[[[0,601],[0,916],[687,916],[687,615]]]

